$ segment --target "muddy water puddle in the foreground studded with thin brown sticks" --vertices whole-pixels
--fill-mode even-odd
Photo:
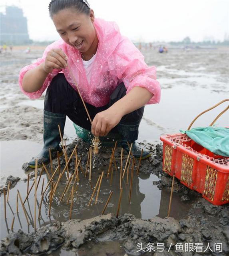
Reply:
[[[95,204],[96,194],[92,200],[92,204],[88,207],[88,203],[90,201],[90,197],[92,196],[92,192],[94,190],[94,186],[98,180],[98,177],[104,171],[104,177],[102,179],[102,184],[100,188],[100,192],[98,195],[98,202]],[[51,171],[49,170],[50,174]],[[92,170],[92,179],[91,185],[89,182],[89,174],[87,178],[85,178],[84,174],[79,170],[80,180],[75,183],[73,197],[73,207],[72,207],[72,219],[88,219],[102,214],[102,210],[104,205],[113,191],[113,195],[111,200],[106,208],[105,214],[113,213],[116,215],[117,213],[117,205],[119,200],[119,185],[120,185],[120,172],[119,169],[113,170],[110,173],[110,176],[107,176],[107,168],[95,168]],[[112,177],[112,178],[111,178]],[[39,178],[39,176],[38,176]],[[58,174],[54,178],[54,181],[57,181]],[[170,192],[167,189],[159,190],[156,185],[153,183],[157,183],[159,177],[154,174],[144,174],[139,172],[139,176],[136,175],[136,170],[134,170],[133,174],[133,184],[132,184],[132,192],[131,192],[131,204],[129,204],[129,190],[130,190],[130,178],[131,174],[129,171],[128,183],[127,184],[127,175],[122,179],[121,187],[123,188],[122,198],[121,198],[121,207],[119,210],[119,214],[123,215],[125,213],[130,213],[135,215],[137,218],[148,219],[154,216],[165,217],[167,216],[168,204],[169,204],[169,196]],[[41,202],[41,190],[42,190],[42,182],[44,179],[44,188],[49,181],[47,174],[44,172],[40,178],[38,190],[37,190],[37,216],[38,216],[38,207]],[[34,182],[34,178],[30,179],[29,188],[31,188]],[[67,174],[62,177],[62,180],[58,184],[58,188],[54,195],[51,208],[50,208],[50,216],[49,215],[49,194],[51,191],[51,186],[48,186],[46,193],[44,194],[44,200],[42,201],[41,207],[41,215],[40,219],[36,220],[36,226],[44,226],[46,224],[51,223],[54,220],[58,220],[60,222],[64,222],[70,217],[70,192],[72,190],[72,183],[69,190],[64,194],[62,201],[60,199],[68,183]],[[35,186],[34,186],[35,187]],[[10,231],[10,227],[12,224],[13,217],[15,217],[14,222],[14,232],[22,229],[24,232],[33,232],[34,231],[34,192],[35,188],[32,188],[28,200],[26,200],[24,206],[29,216],[30,225],[27,225],[26,218],[19,201],[19,213],[16,214],[16,194],[17,190],[20,191],[22,196],[22,200],[24,201],[27,195],[27,182],[23,180],[18,182],[18,184],[10,189],[9,192],[9,200],[6,204],[6,216],[7,219],[4,220],[4,196],[0,197],[1,204],[1,238],[5,237]],[[97,191],[97,190],[96,190]],[[191,203],[183,203],[180,200],[179,194],[173,194],[173,205],[171,208],[170,216],[174,218],[183,218],[187,216],[188,210],[191,208]],[[177,210],[179,209],[179,210]]]

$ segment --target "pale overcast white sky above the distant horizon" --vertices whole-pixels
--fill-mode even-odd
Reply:
[[[18,6],[28,20],[30,39],[54,41],[60,37],[48,15],[49,0],[2,0]],[[89,0],[95,16],[115,21],[121,33],[133,41],[198,42],[229,36],[229,0]]]

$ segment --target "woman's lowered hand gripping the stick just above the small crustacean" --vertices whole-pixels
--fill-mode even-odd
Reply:
[[[98,113],[92,122],[92,134],[94,136],[106,136],[121,120],[120,111],[110,107]]]

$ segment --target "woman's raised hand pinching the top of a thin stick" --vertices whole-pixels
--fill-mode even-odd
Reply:
[[[66,68],[68,56],[61,49],[52,49],[48,52],[44,62],[44,72],[51,73],[54,68]]]

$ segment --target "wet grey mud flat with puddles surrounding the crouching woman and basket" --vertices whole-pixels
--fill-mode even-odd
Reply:
[[[42,218],[37,221],[34,231],[34,189],[25,203],[30,216],[26,223],[19,206],[16,214],[16,194],[20,190],[26,198],[27,174],[30,173],[29,187],[34,182],[34,171],[25,162],[36,156],[42,148],[42,106],[44,95],[35,101],[28,100],[18,86],[18,73],[22,66],[30,64],[42,55],[42,49],[32,49],[24,54],[23,48],[15,48],[12,53],[1,58],[0,91],[0,237],[1,255],[228,255],[229,254],[229,205],[214,206],[189,190],[175,179],[170,217],[167,218],[171,177],[162,171],[162,147],[159,136],[162,133],[175,133],[188,127],[191,120],[201,111],[226,98],[229,93],[228,50],[193,50],[185,52],[171,50],[168,54],[158,54],[156,50],[143,50],[149,65],[157,66],[162,95],[159,105],[147,106],[140,126],[139,143],[152,152],[152,157],[141,162],[139,176],[133,178],[132,202],[128,204],[129,185],[123,182],[123,198],[118,218],[116,218],[119,198],[119,169],[114,169],[112,186],[104,178],[98,203],[88,207],[92,188],[80,173],[80,185],[74,198],[72,220],[69,220],[69,192],[60,203],[66,186],[66,177],[54,197],[51,214],[48,216],[48,188],[41,210]],[[222,109],[225,106],[222,106]],[[197,121],[196,126],[205,126],[221,112],[216,110]],[[228,125],[228,115],[222,116],[219,126]],[[70,156],[78,144],[78,159],[82,158],[85,170],[89,145],[76,137],[72,123],[67,121],[65,138]],[[156,142],[155,142],[156,141]],[[117,167],[121,149],[115,151]],[[108,170],[111,149],[102,148],[95,158],[92,169],[92,185],[98,175]],[[127,155],[125,155],[125,159]],[[73,158],[74,160],[75,158]],[[25,164],[23,164],[25,163]],[[61,167],[65,160],[60,158]],[[21,168],[23,164],[23,169]],[[53,161],[53,168],[57,161]],[[50,166],[47,165],[51,174]],[[69,164],[70,172],[74,161]],[[38,175],[41,169],[38,170]],[[48,176],[42,173],[38,188],[48,183]],[[7,219],[4,219],[2,188],[10,184],[10,197]],[[101,215],[111,191],[114,195]],[[71,200],[69,201],[71,203]],[[15,217],[14,229],[10,230]],[[142,246],[142,250],[139,247]],[[186,247],[185,247],[186,246]],[[220,247],[221,246],[221,247]],[[145,248],[145,249],[144,249]],[[222,249],[222,250],[221,250]],[[144,252],[145,251],[145,252]],[[147,251],[147,252],[146,252]]]

